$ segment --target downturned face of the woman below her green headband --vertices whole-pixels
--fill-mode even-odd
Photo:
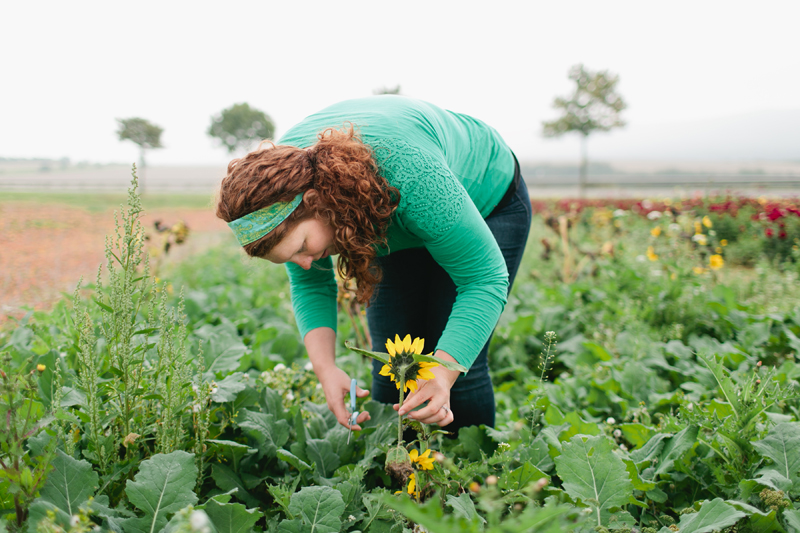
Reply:
[[[334,253],[333,228],[327,222],[314,217],[289,230],[265,259],[273,263],[294,263],[308,270],[313,261]]]

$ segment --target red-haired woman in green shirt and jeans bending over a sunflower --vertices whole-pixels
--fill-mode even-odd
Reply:
[[[402,96],[341,102],[277,146],[231,161],[217,216],[249,255],[287,264],[298,327],[339,423],[350,427],[350,377],[334,360],[336,254],[369,304],[373,350],[410,334],[425,339],[426,352],[470,369],[434,368],[400,414],[453,431],[494,425],[487,349],[531,220],[519,165],[494,129]],[[373,397],[395,403],[380,367]],[[352,429],[368,419],[362,413]]]

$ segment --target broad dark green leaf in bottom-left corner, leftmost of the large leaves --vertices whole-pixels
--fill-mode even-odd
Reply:
[[[40,496],[30,506],[28,524],[32,532],[48,511],[55,513],[56,524],[69,530],[70,517],[97,490],[98,476],[89,462],[77,461],[58,450],[52,464]]]

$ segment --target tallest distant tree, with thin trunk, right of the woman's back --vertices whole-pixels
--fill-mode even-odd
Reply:
[[[563,110],[561,118],[543,122],[545,137],[560,137],[576,131],[581,135],[581,167],[578,185],[580,195],[586,189],[586,169],[588,166],[587,141],[595,131],[610,131],[621,128],[625,122],[620,112],[627,104],[616,92],[619,76],[607,70],[592,72],[584,66],[575,65],[569,71],[569,79],[577,85],[575,92],[566,98],[557,97],[553,107]]]

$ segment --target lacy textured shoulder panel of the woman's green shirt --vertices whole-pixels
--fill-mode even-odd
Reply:
[[[444,162],[399,139],[368,142],[383,177],[400,191],[399,222],[424,241],[450,231],[469,197]]]

